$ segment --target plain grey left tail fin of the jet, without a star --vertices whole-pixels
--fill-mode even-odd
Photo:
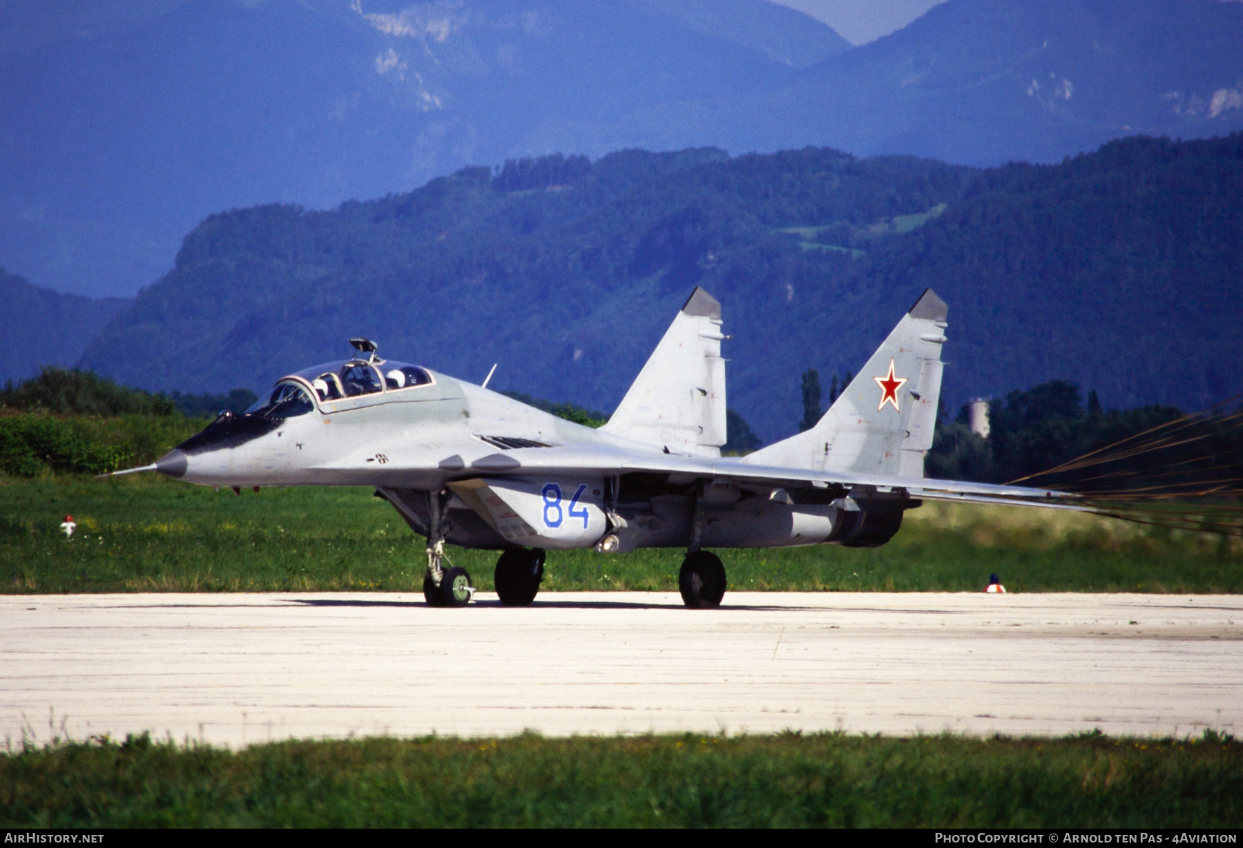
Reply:
[[[721,305],[696,287],[602,430],[686,454],[725,444]]]

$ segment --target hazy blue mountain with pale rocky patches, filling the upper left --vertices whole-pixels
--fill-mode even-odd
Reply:
[[[762,0],[113,5],[0,10],[35,45],[0,37],[0,261],[87,293],[154,280],[220,209],[410,190],[580,132],[598,142],[564,149],[602,155],[635,109],[759,92],[850,46]],[[20,26],[42,17],[60,39]]]

